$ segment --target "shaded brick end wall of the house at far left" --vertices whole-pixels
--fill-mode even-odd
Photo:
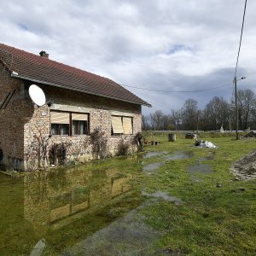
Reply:
[[[18,79],[11,79],[3,67],[0,66],[0,107],[9,95],[15,91],[10,98],[6,108],[0,109],[0,163],[9,168],[22,169],[24,158],[24,117],[27,105],[24,102],[24,85]]]

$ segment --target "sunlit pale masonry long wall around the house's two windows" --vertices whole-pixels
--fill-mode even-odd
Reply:
[[[44,166],[45,160],[49,156],[49,148],[54,144],[64,143],[67,146],[67,157],[80,161],[90,160],[92,150],[90,145],[90,135],[60,137],[50,134],[50,110],[60,110],[69,112],[89,113],[90,133],[97,127],[104,132],[108,139],[108,154],[115,154],[120,141],[130,143],[137,132],[141,131],[141,106],[129,102],[120,102],[104,98],[101,96],[91,96],[72,90],[38,84],[46,95],[47,100],[52,98],[54,103],[48,107],[38,108],[32,104],[32,110],[26,113],[26,123],[24,125],[24,159],[26,169],[35,169]],[[29,84],[25,85],[27,90]],[[27,99],[26,101],[31,101]],[[26,102],[26,104],[29,104]],[[123,136],[111,135],[111,115],[129,116],[133,120],[133,134]],[[136,146],[131,146],[131,150],[137,150]],[[38,158],[38,153],[40,158]],[[32,160],[35,159],[35,160]],[[38,165],[40,163],[40,165]],[[46,163],[50,164],[50,163]]]

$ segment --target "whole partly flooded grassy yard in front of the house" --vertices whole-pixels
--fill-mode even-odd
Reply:
[[[254,255],[256,183],[230,172],[254,140],[146,136],[144,156],[0,174],[0,255]]]

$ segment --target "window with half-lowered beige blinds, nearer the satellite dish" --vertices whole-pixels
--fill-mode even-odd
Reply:
[[[50,125],[51,135],[54,136],[77,136],[89,134],[87,113],[51,111]]]

